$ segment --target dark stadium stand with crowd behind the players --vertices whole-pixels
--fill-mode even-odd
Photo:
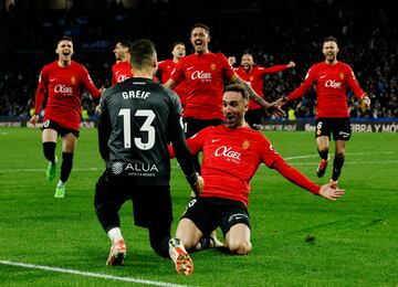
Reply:
[[[30,117],[40,70],[55,59],[53,42],[63,34],[73,38],[75,60],[87,67],[95,85],[107,87],[115,62],[112,51],[118,40],[150,38],[159,60],[169,59],[172,43],[182,41],[189,54],[192,50],[187,34],[198,21],[210,26],[210,47],[214,52],[240,59],[249,51],[263,66],[296,63],[292,70],[266,75],[268,102],[296,88],[310,66],[323,61],[322,40],[334,35],[341,46],[338,59],[352,65],[373,103],[365,110],[349,96],[350,116],[398,118],[398,25],[391,9],[383,2],[358,7],[339,0],[282,1],[289,3],[282,9],[277,3],[255,0],[245,7],[239,1],[230,1],[228,7],[224,1],[212,7],[208,1],[192,1],[196,9],[189,15],[184,1],[143,2],[147,3],[126,9],[121,1],[98,1],[90,10],[72,7],[54,11],[20,1],[10,11],[0,10],[0,35],[4,40],[0,44],[0,116]],[[313,92],[289,108],[298,118],[314,117],[315,99]],[[87,94],[82,107],[88,115],[94,114],[95,104]]]

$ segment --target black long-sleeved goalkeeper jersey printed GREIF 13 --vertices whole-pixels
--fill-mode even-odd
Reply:
[[[181,126],[178,96],[153,79],[132,77],[105,91],[98,123],[100,151],[114,176],[137,185],[168,185],[167,145],[187,176],[195,172]]]

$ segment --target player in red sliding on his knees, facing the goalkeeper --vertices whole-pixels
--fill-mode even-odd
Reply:
[[[331,183],[320,187],[287,164],[264,135],[245,125],[248,104],[244,87],[235,84],[227,86],[222,99],[226,125],[208,127],[188,139],[191,153],[203,152],[205,187],[200,195],[188,204],[177,226],[175,240],[181,241],[187,249],[193,248],[203,235],[220,226],[226,246],[232,254],[243,255],[251,251],[250,180],[262,162],[322,198],[335,201],[345,192],[332,189]],[[172,245],[169,252],[171,257],[176,254]],[[175,261],[175,265],[178,273],[190,270],[181,262]]]

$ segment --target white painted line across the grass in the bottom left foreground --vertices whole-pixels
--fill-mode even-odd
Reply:
[[[0,264],[18,266],[18,267],[23,267],[23,268],[30,268],[30,269],[40,269],[40,270],[46,270],[46,272],[57,272],[57,273],[66,273],[66,274],[81,275],[81,276],[87,276],[87,277],[96,277],[96,278],[102,278],[102,279],[138,283],[138,284],[153,285],[153,286],[167,286],[167,287],[186,287],[187,286],[187,285],[178,285],[178,284],[171,284],[171,283],[145,280],[145,279],[138,279],[138,278],[132,278],[132,277],[114,276],[114,275],[107,275],[107,274],[101,274],[101,273],[64,269],[64,268],[60,268],[60,267],[50,267],[50,266],[42,266],[42,265],[28,264],[28,263],[0,261]]]

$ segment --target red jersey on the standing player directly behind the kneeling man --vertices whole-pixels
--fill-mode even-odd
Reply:
[[[197,119],[224,119],[222,93],[224,81],[234,81],[233,72],[222,53],[190,54],[182,57],[171,78],[177,83],[186,81],[187,103],[184,117]]]

